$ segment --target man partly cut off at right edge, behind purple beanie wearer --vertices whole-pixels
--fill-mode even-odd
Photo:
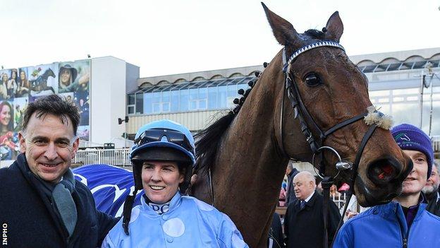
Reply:
[[[434,215],[440,216],[440,194],[439,194],[439,164],[435,163],[432,166],[431,177],[424,184],[422,189],[424,196],[426,196],[428,206],[426,210],[429,213],[434,213]]]

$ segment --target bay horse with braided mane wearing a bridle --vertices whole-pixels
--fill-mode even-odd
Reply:
[[[353,165],[337,179],[354,175],[362,206],[391,201],[412,169],[389,130],[365,122],[367,109],[381,114],[370,111],[367,78],[338,44],[338,12],[322,31],[297,33],[262,5],[283,49],[232,112],[196,135],[192,187],[236,223],[250,247],[266,245],[289,159],[312,162],[316,153],[325,175],[336,175],[338,162]]]

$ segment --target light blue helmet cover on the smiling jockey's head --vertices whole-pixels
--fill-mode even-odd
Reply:
[[[188,155],[190,160],[193,162],[193,166],[195,165],[195,146],[194,146],[194,138],[193,134],[183,125],[178,124],[177,122],[173,122],[169,119],[162,119],[160,121],[150,122],[149,124],[145,124],[142,126],[138,132],[136,133],[135,140],[138,139],[146,130],[148,129],[171,129],[173,131],[179,131],[182,134],[188,138],[188,141],[190,141],[190,145],[193,148],[193,150],[190,152],[183,148],[182,146],[179,146],[176,143],[172,143],[168,141],[166,137],[163,137],[161,141],[153,141],[149,143],[142,144],[138,146],[137,144],[134,144],[131,148],[130,153],[130,159],[133,158],[133,156],[138,153],[140,150],[144,150],[145,148],[152,148],[152,147],[169,147],[169,148],[175,148],[177,150],[180,150],[185,155]]]

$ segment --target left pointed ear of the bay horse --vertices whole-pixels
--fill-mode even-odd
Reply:
[[[271,25],[272,32],[274,32],[274,36],[279,44],[283,46],[288,44],[293,45],[295,40],[298,39],[298,33],[296,33],[293,25],[272,12],[263,2],[262,6],[264,12],[266,12],[267,20],[269,20],[269,25]]]

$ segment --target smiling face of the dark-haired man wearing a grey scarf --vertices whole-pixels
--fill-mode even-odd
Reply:
[[[78,150],[71,120],[64,122],[52,114],[37,118],[34,113],[19,135],[20,152],[25,153],[30,170],[47,182],[60,181]]]

